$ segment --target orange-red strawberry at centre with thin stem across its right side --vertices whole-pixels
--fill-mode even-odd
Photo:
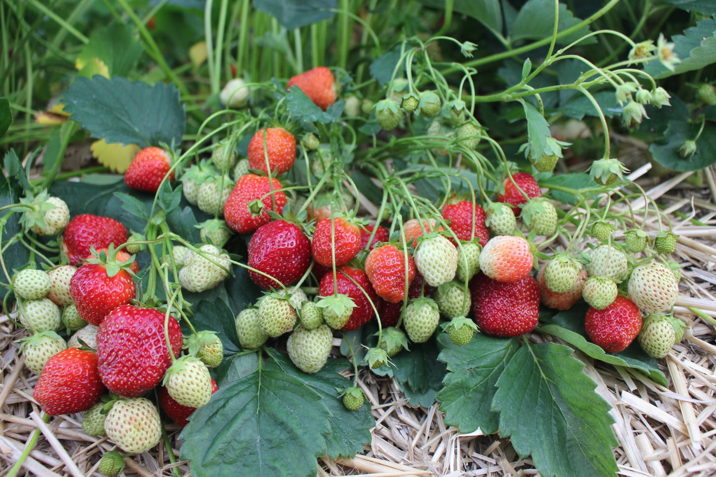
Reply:
[[[415,278],[415,262],[407,251],[387,244],[370,251],[365,273],[379,297],[391,303],[402,302],[407,286]]]

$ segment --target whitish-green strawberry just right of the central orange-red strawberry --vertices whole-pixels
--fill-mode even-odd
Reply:
[[[442,235],[423,238],[412,258],[425,283],[430,286],[440,286],[455,279],[458,249]]]

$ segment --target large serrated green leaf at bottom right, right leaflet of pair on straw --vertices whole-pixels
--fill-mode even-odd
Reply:
[[[542,476],[614,476],[610,406],[570,347],[525,342],[497,382],[500,435]]]

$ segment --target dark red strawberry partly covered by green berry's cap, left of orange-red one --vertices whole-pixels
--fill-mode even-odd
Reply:
[[[372,304],[377,307],[378,296],[365,272],[361,269],[354,269],[352,266],[341,266],[336,269],[336,282],[337,288],[334,287],[333,274],[325,274],[319,284],[318,294],[321,297],[330,297],[334,293],[339,293],[353,299],[356,306],[353,308],[348,322],[341,329],[353,331],[373,319],[375,311]]]

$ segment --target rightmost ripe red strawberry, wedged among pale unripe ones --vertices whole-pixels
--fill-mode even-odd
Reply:
[[[589,307],[584,329],[591,342],[609,353],[618,353],[632,344],[642,329],[642,312],[632,300],[619,295],[605,309]]]

